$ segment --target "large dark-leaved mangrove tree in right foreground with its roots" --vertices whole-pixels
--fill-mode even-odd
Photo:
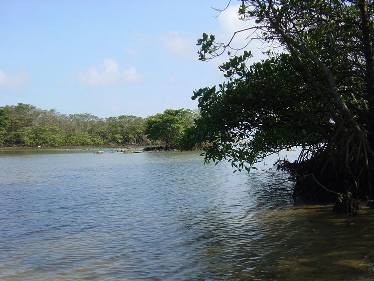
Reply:
[[[267,155],[301,146],[279,169],[304,201],[374,198],[374,3],[366,0],[243,0],[248,27],[228,43],[203,34],[200,60],[222,53],[225,81],[194,92],[201,118],[186,147],[208,142],[205,161],[249,171]],[[252,65],[238,34],[259,40],[267,58]]]

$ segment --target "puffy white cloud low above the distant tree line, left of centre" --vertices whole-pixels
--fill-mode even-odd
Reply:
[[[113,59],[106,58],[101,64],[91,66],[88,71],[79,73],[78,80],[85,86],[111,86],[139,82],[141,75],[137,73],[134,66],[120,71]]]

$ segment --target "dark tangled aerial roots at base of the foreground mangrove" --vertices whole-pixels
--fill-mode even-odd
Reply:
[[[280,160],[276,165],[295,180],[295,199],[334,202],[341,195],[341,205],[336,201],[339,206],[335,209],[355,212],[358,200],[374,198],[374,161],[367,151],[354,134],[340,131],[325,145],[303,149],[295,162]]]

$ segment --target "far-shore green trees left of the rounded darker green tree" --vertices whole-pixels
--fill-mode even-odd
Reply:
[[[61,114],[18,103],[0,107],[0,146],[148,145],[146,118]]]

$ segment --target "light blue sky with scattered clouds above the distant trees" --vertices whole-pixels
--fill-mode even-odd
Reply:
[[[199,61],[197,39],[206,32],[227,41],[248,25],[237,19],[235,0],[214,17],[211,7],[227,3],[1,0],[0,106],[99,117],[195,109],[194,89],[224,81],[223,58]]]

